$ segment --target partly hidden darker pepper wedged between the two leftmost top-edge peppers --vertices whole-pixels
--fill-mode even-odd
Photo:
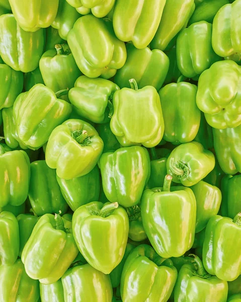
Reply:
[[[58,13],[51,26],[58,29],[59,36],[67,40],[68,32],[73,28],[79,13],[65,0],[59,0]]]

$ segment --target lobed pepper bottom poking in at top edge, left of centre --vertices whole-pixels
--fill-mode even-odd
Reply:
[[[112,10],[115,0],[66,0],[79,14],[92,13],[97,18],[103,18]]]

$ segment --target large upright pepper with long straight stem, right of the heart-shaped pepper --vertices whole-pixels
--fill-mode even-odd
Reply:
[[[165,258],[180,257],[192,247],[196,222],[193,191],[170,189],[171,181],[167,175],[163,188],[145,190],[141,197],[144,230],[156,253]]]

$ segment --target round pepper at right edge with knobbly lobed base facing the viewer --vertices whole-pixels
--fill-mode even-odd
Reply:
[[[240,78],[241,66],[231,60],[216,62],[201,74],[197,106],[213,128],[234,128],[241,124]]]

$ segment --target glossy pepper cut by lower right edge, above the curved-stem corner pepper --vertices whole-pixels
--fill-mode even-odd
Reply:
[[[225,281],[240,275],[240,233],[241,213],[234,219],[219,215],[209,219],[203,244],[203,264],[209,274]]]

